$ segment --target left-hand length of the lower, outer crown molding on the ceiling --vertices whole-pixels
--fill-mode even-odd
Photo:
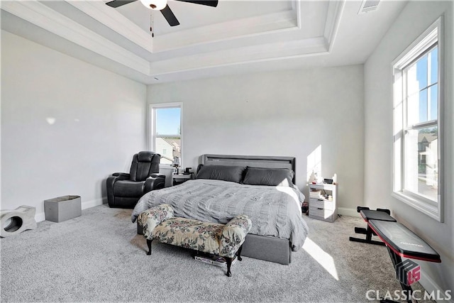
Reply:
[[[134,55],[106,38],[89,31],[79,23],[50,9],[38,1],[1,1],[1,9],[59,35],[94,53],[114,60],[145,75],[150,75],[147,60]]]

